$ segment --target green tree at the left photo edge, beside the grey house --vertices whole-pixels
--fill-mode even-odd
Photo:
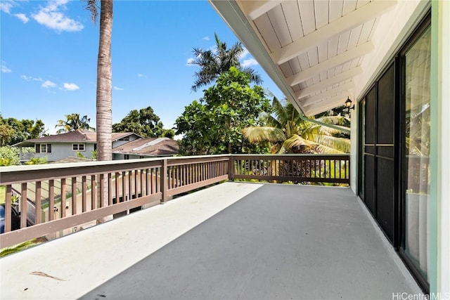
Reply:
[[[45,125],[40,119],[4,119],[0,114],[0,145],[14,145],[45,134]]]

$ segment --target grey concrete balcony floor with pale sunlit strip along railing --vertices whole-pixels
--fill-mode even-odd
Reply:
[[[0,270],[1,299],[421,294],[352,191],[319,186],[221,183],[6,256]]]

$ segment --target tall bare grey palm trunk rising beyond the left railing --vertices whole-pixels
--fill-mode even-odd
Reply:
[[[97,159],[112,160],[113,131],[113,84],[111,67],[111,34],[113,31],[113,0],[101,0],[100,41],[98,43],[97,60],[97,92],[96,92],[96,127],[97,127]],[[98,176],[99,177],[99,176]],[[108,205],[108,184],[103,182],[103,199],[101,199],[100,179],[98,182],[98,206]],[[98,220],[99,223],[105,221]]]

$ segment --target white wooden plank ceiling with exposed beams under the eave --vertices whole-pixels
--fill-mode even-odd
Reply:
[[[371,36],[377,21],[396,1],[238,0],[236,4],[282,74],[292,96],[288,100],[309,116],[343,105],[347,97],[354,100],[354,78],[375,50]],[[230,20],[229,25],[233,29]]]

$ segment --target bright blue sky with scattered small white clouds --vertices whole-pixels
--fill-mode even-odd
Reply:
[[[82,0],[1,0],[2,117],[41,119],[55,133],[58,119],[78,113],[96,123],[98,23]],[[113,17],[113,123],[151,106],[165,128],[201,98],[191,86],[198,67],[193,48],[214,46],[214,32],[229,46],[238,39],[209,2],[115,0]],[[262,86],[281,91],[246,52]]]

